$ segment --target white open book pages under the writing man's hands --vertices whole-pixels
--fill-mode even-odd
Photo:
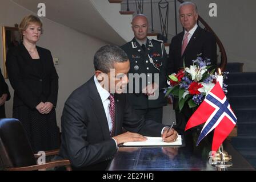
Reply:
[[[182,137],[178,135],[175,142],[163,142],[162,137],[146,137],[143,142],[126,142],[123,146],[182,146]]]

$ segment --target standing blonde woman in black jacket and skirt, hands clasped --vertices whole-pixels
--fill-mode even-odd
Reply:
[[[23,42],[7,53],[6,67],[14,89],[13,117],[19,119],[34,152],[59,147],[55,106],[58,75],[51,52],[36,46],[42,22],[28,15],[19,24]]]

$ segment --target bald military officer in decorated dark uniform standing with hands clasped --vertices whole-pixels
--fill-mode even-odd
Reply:
[[[147,39],[149,26],[145,15],[134,16],[131,24],[135,37],[121,47],[130,60],[129,99],[138,115],[162,123],[163,106],[167,104],[163,93],[163,88],[167,86],[165,46],[158,40]],[[135,73],[145,76],[146,81],[135,76],[131,79],[130,75]],[[133,93],[130,92],[131,86]],[[158,97],[150,99],[153,96]]]

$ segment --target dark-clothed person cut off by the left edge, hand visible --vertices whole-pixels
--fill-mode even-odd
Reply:
[[[0,118],[5,118],[5,101],[9,101],[10,97],[8,85],[0,69]]]

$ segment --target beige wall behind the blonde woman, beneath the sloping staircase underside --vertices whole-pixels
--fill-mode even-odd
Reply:
[[[30,11],[23,9],[9,0],[0,1],[0,26],[14,26],[19,23],[23,16],[31,14]],[[38,46],[50,49],[54,57],[59,58],[59,64],[55,65],[59,75],[59,94],[57,104],[57,122],[61,126],[60,118],[63,105],[71,92],[83,82],[87,81],[94,72],[93,56],[97,49],[106,43],[81,34],[71,28],[52,22],[43,18],[44,32]],[[3,71],[3,48],[2,36],[0,36],[0,67]],[[9,80],[11,96],[13,89]],[[7,117],[12,116],[13,100],[6,102]]]

